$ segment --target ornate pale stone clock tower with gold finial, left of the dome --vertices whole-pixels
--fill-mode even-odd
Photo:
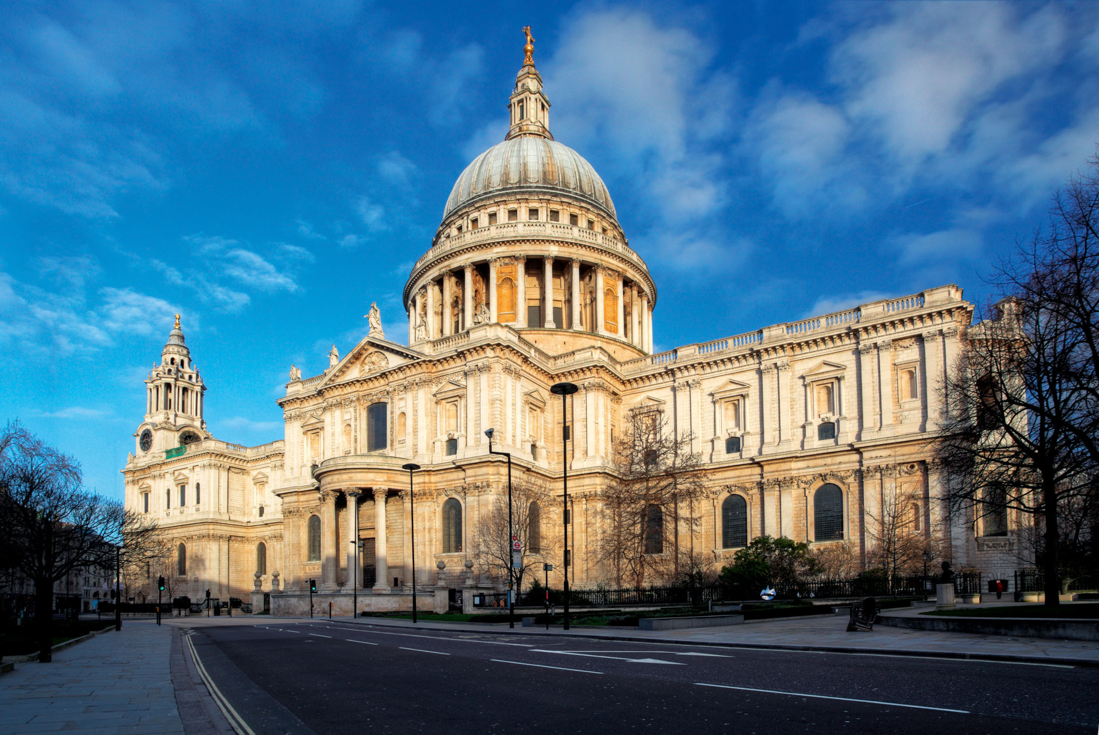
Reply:
[[[206,385],[191,361],[184,332],[176,324],[145,379],[145,416],[135,434],[136,456],[153,450],[168,450],[200,442],[210,436],[202,419]]]

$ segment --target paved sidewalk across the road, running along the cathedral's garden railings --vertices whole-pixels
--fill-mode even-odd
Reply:
[[[923,610],[926,610],[924,608]],[[308,617],[306,619],[309,620]],[[378,617],[334,619],[342,623],[411,626],[411,621]],[[317,619],[314,622],[328,622]],[[876,625],[866,633],[847,633],[846,615],[819,615],[801,620],[759,621],[752,624],[682,631],[637,631],[573,627],[519,627],[518,635],[576,635],[630,641],[653,641],[688,645],[752,646],[821,653],[898,654],[907,656],[988,658],[1026,662],[1073,664],[1099,667],[1099,644],[1087,641],[1013,638],[1000,635],[940,633]],[[417,627],[464,632],[512,632],[506,624],[424,623]]]

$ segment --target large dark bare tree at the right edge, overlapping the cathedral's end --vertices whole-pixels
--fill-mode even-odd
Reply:
[[[945,381],[939,456],[953,512],[1040,519],[1046,604],[1057,604],[1065,512],[1094,502],[1099,468],[1099,164],[1057,194],[1050,226],[993,283],[1002,299]]]

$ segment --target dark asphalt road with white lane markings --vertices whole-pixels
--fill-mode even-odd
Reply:
[[[301,622],[196,627],[264,733],[1095,733],[1099,670]]]

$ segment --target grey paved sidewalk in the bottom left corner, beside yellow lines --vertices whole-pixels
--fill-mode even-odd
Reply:
[[[171,681],[175,628],[123,623],[0,676],[0,732],[179,733]]]

